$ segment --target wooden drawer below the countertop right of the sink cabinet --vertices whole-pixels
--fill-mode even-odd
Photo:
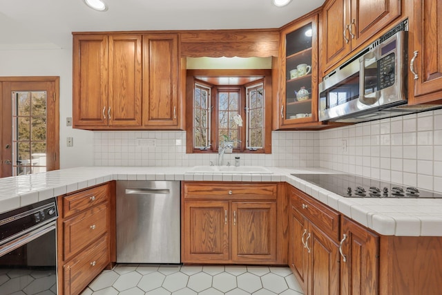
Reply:
[[[327,234],[334,241],[339,240],[339,218],[338,212],[326,207],[319,201],[291,187],[290,202],[294,209],[311,221],[318,229]]]

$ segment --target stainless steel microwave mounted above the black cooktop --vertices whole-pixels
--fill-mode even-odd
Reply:
[[[407,33],[387,33],[327,75],[319,84],[319,120],[365,122],[416,112],[405,107]]]

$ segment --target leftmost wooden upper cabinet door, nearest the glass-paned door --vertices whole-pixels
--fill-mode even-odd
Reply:
[[[73,39],[73,126],[108,125],[108,37]]]

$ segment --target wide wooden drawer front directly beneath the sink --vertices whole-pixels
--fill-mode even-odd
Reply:
[[[278,184],[257,182],[187,182],[186,199],[276,200]]]

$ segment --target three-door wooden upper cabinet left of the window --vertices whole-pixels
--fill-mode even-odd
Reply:
[[[73,126],[179,129],[177,34],[73,36]]]

